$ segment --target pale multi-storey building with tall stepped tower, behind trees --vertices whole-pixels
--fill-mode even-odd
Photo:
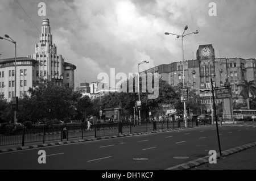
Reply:
[[[49,19],[43,19],[39,43],[35,45],[35,53],[27,57],[16,57],[16,96],[27,94],[29,87],[39,77],[56,82],[57,85],[67,83],[75,89],[74,70],[76,66],[64,61],[57,54],[57,47],[52,43]],[[15,95],[15,58],[0,60],[0,94],[8,101]]]

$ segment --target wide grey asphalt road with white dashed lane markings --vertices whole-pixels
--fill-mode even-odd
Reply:
[[[221,150],[255,141],[256,122],[219,127]],[[39,163],[39,150],[46,163]],[[216,125],[11,151],[0,154],[0,169],[164,170],[219,152]]]

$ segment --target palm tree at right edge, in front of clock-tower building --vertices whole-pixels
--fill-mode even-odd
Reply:
[[[255,81],[249,81],[243,80],[242,84],[238,84],[238,87],[242,87],[242,91],[240,92],[240,96],[243,96],[243,98],[247,99],[247,108],[250,110],[250,97],[255,97],[256,95],[256,87],[254,84]]]

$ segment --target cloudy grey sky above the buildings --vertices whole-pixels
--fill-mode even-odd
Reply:
[[[46,3],[46,16],[38,4]],[[216,3],[210,16],[209,3]],[[256,57],[255,0],[1,0],[0,36],[17,42],[17,56],[35,52],[42,19],[48,18],[57,54],[75,64],[75,87],[97,81],[99,73],[138,72],[160,64],[196,58],[199,45],[213,44],[216,57]],[[1,58],[14,57],[14,46],[0,41]]]

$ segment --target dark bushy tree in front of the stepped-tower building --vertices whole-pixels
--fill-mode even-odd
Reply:
[[[39,78],[34,87],[28,89],[34,106],[31,111],[32,120],[73,119],[77,113],[77,100],[80,92],[74,92],[67,84],[58,86],[48,79]]]

